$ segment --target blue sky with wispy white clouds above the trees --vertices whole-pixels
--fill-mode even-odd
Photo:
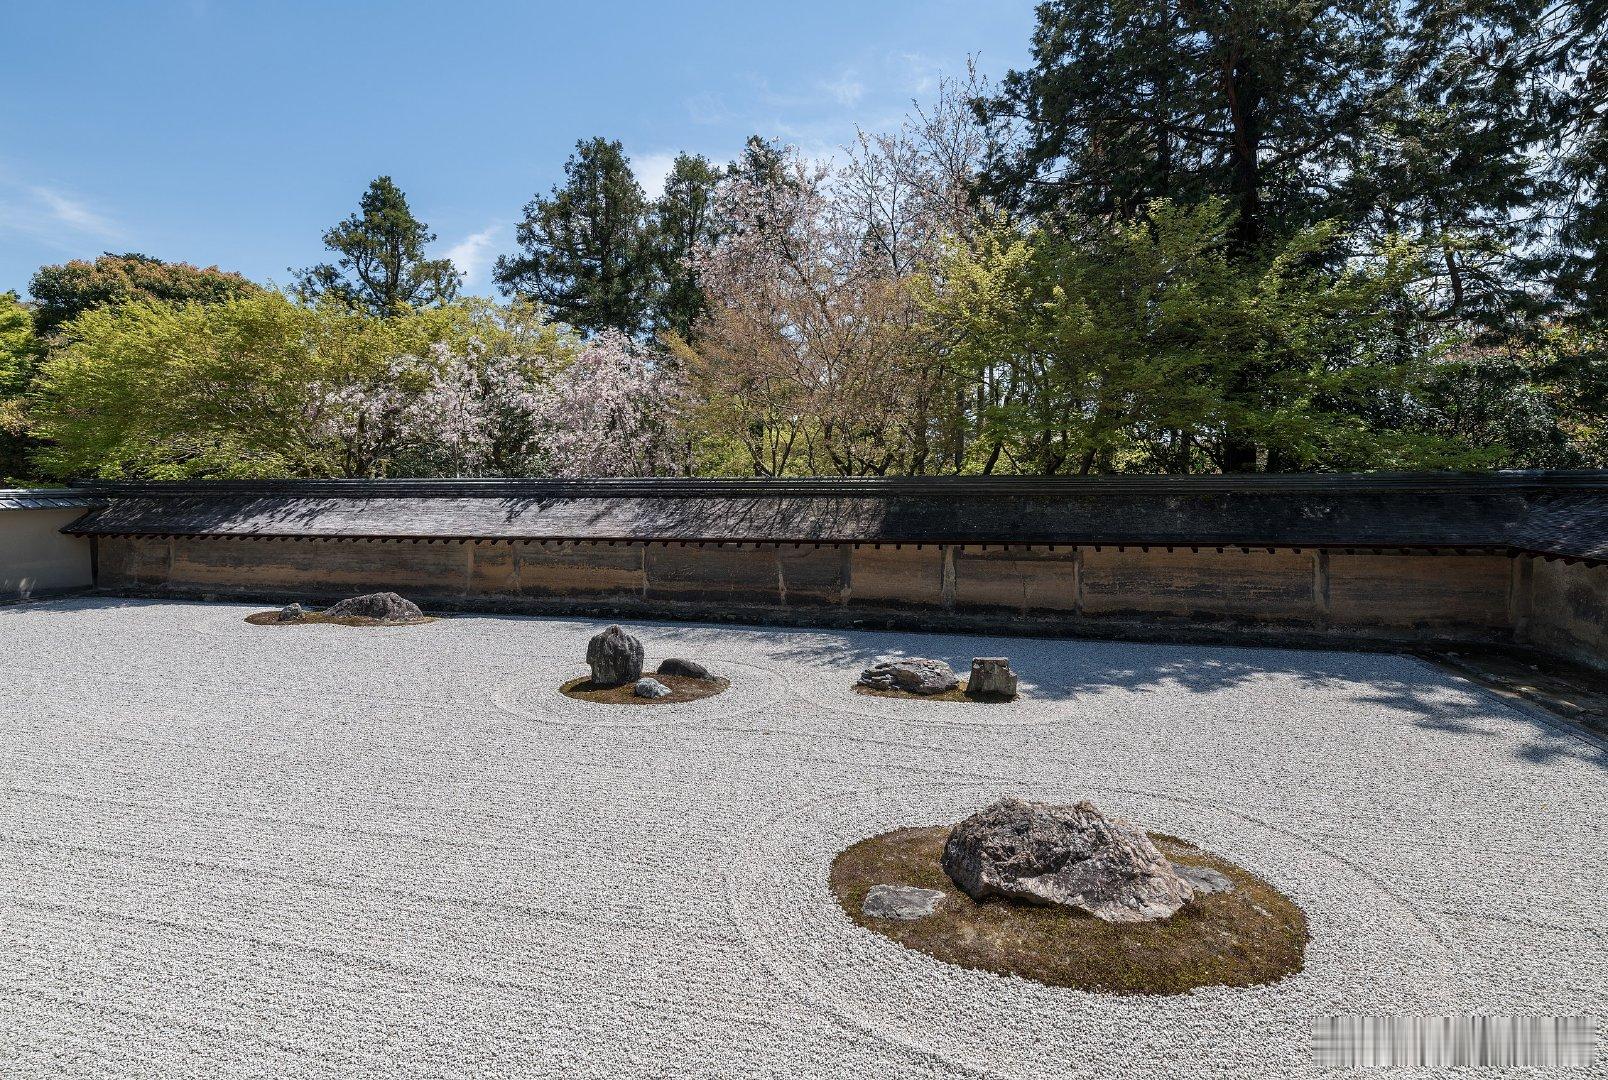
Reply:
[[[285,284],[389,174],[490,292],[577,138],[619,138],[650,188],[756,132],[825,154],[968,55],[1023,66],[1032,3],[10,0],[0,24],[0,291],[101,251]]]

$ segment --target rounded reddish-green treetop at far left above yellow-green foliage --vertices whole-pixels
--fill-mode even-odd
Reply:
[[[217,267],[162,262],[135,252],[103,254],[95,262],[74,259],[40,267],[27,286],[34,297],[34,328],[48,338],[84,312],[133,301],[220,304],[260,292],[260,286]]]

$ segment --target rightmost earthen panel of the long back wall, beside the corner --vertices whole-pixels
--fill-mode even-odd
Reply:
[[[1343,628],[1500,628],[1510,582],[1503,554],[1330,551],[1328,617]]]

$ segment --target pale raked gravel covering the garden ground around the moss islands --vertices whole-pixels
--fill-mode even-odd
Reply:
[[[0,1075],[1285,1077],[1314,1017],[1605,1012],[1608,747],[1413,659],[642,624],[732,688],[624,707],[556,693],[595,622],[249,611],[0,608]],[[1024,698],[849,689],[907,654]],[[1110,998],[839,911],[1007,792],[1262,874],[1306,971]]]

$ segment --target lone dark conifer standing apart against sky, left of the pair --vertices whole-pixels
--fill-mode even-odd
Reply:
[[[297,291],[307,299],[330,296],[379,317],[450,304],[463,275],[450,259],[425,257],[425,246],[434,241],[436,233],[413,217],[391,177],[376,177],[359,212],[323,235],[323,246],[339,259],[296,272]]]

